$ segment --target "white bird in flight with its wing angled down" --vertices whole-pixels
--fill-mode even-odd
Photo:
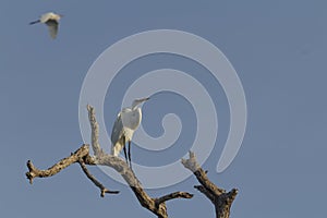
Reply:
[[[60,14],[56,14],[53,12],[48,12],[48,13],[43,14],[39,20],[31,22],[29,25],[37,24],[37,23],[47,24],[50,36],[51,36],[51,38],[55,39],[57,37],[59,20],[61,17],[62,17],[62,15],[60,15]]]

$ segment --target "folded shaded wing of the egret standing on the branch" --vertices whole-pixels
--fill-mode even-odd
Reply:
[[[121,113],[118,114],[112,132],[111,132],[111,154],[114,156],[118,156],[121,149],[124,147],[123,142],[122,142],[122,136],[124,134],[123,131],[123,123],[121,119]]]

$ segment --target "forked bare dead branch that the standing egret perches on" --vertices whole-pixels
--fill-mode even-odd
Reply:
[[[112,155],[106,154],[98,143],[98,136],[99,136],[99,130],[98,130],[98,123],[96,121],[95,117],[95,109],[92,106],[87,106],[88,110],[88,119],[90,122],[90,129],[92,129],[92,148],[95,154],[95,156],[89,155],[89,146],[88,145],[82,145],[75,153],[72,153],[71,156],[61,159],[59,162],[53,165],[47,170],[39,170],[32,164],[31,160],[27,161],[27,168],[28,172],[26,172],[26,177],[29,180],[29,182],[33,182],[34,178],[46,178],[46,177],[52,177],[60,172],[62,169],[69,167],[72,164],[78,162],[82,170],[86,174],[86,177],[100,189],[101,196],[105,195],[105,193],[109,194],[117,194],[118,191],[109,191],[106,189],[86,168],[86,165],[89,166],[107,166],[110,168],[113,168],[118,173],[122,175],[122,178],[125,180],[125,182],[130,185],[131,190],[134,192],[136,198],[138,199],[140,204],[157,215],[159,218],[167,218],[167,206],[166,202],[169,199],[174,198],[192,198],[193,195],[187,192],[174,192],[171,194],[167,194],[162,197],[153,198],[150,197],[142,187],[141,182],[134,174],[134,172],[131,170],[131,168],[126,165],[124,160],[122,160],[119,157],[114,157]]]

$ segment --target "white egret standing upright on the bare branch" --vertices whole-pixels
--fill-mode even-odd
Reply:
[[[126,162],[131,164],[131,141],[135,130],[138,128],[142,121],[142,110],[138,105],[148,100],[149,98],[135,99],[132,107],[123,108],[117,117],[111,132],[111,155],[118,156],[122,149],[124,149],[124,155]],[[126,155],[125,143],[129,143],[129,158]]]

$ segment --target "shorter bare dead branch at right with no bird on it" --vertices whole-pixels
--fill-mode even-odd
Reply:
[[[226,190],[218,187],[215,185],[207,177],[207,173],[201,168],[197,164],[194,153],[190,152],[189,159],[182,159],[182,165],[191,170],[197,181],[202,185],[195,185],[201,193],[206,195],[210,199],[210,202],[215,205],[216,217],[217,218],[229,218],[230,207],[238,195],[238,190],[232,189],[230,192],[226,192]]]

